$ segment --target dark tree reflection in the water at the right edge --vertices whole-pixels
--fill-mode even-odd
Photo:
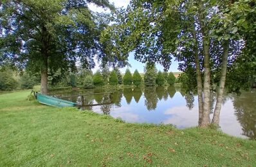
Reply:
[[[256,139],[256,93],[243,92],[241,96],[234,96],[233,107],[235,116],[241,123],[242,134]]]

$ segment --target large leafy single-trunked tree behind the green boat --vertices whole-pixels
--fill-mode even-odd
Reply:
[[[42,94],[47,93],[49,69],[74,68],[77,60],[91,69],[95,66],[93,55],[102,58],[107,54],[100,32],[108,21],[91,12],[88,3],[113,8],[107,0],[1,2],[1,59],[40,71]]]

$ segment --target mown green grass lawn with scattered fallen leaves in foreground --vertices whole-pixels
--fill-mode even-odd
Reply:
[[[0,94],[0,166],[256,166],[256,141],[210,129],[123,123]]]

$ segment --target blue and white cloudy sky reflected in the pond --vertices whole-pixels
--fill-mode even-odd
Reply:
[[[154,94],[150,96],[154,96]],[[182,96],[180,92],[176,92],[173,98],[168,96],[167,100],[164,100],[164,98],[158,99],[156,109],[154,110],[147,109],[147,105],[145,105],[146,98],[147,96],[145,97],[144,93],[142,93],[138,103],[136,103],[133,96],[131,103],[127,104],[125,96],[122,95],[121,107],[111,105],[110,115],[114,118],[122,118],[129,123],[165,123],[176,125],[177,128],[197,126],[197,96],[194,96],[194,107],[192,109],[188,109],[185,96]],[[95,100],[93,101],[96,103]],[[92,110],[102,113],[101,106],[93,106]],[[233,101],[230,99],[226,100],[221,108],[221,130],[232,136],[246,137],[242,136],[241,123],[237,121],[234,111]]]

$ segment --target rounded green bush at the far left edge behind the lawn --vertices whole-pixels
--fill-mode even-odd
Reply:
[[[17,89],[18,82],[14,79],[14,73],[10,69],[0,71],[0,91],[12,91]]]

